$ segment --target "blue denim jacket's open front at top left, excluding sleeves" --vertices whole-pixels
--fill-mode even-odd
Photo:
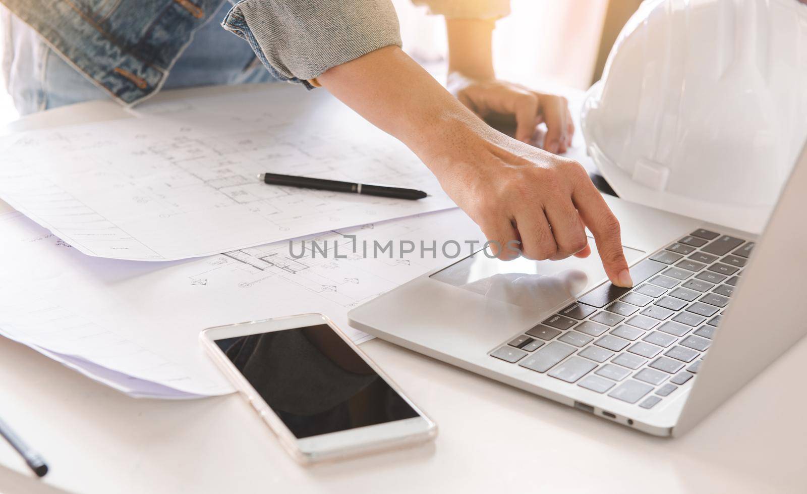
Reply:
[[[222,0],[2,0],[51,48],[122,103],[161,88]]]

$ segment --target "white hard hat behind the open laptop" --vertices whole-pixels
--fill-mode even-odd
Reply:
[[[807,5],[646,0],[582,130],[621,197],[761,231],[807,138]]]

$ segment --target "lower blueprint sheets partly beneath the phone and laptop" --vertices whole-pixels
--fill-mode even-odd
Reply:
[[[484,239],[453,209],[307,237],[307,253],[312,240],[328,241],[327,257],[295,258],[303,245],[295,240],[295,256],[282,241],[183,262],[115,261],[88,257],[19,212],[6,213],[0,333],[130,396],[220,395],[233,389],[201,349],[203,329],[321,312],[365,341],[347,323],[349,308],[453,262],[441,252],[445,241]],[[434,242],[437,250],[401,258],[396,247],[393,257],[365,257],[365,241]]]

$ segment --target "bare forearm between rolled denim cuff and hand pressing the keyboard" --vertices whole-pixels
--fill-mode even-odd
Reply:
[[[433,171],[452,132],[487,128],[398,47],[328,69],[318,81],[343,103],[412,149]],[[487,128],[492,131],[492,129]]]

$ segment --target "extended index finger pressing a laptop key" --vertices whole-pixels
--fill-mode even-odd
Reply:
[[[622,251],[622,236],[617,216],[614,216],[600,191],[586,176],[572,192],[572,201],[580,218],[594,235],[600,259],[608,279],[617,287],[633,287],[628,262]]]

